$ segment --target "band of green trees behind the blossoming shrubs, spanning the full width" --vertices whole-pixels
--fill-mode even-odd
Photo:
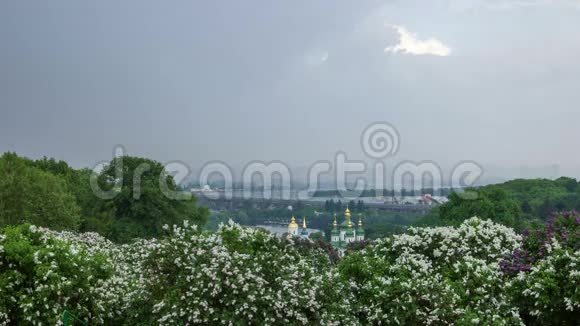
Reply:
[[[97,196],[91,188],[91,177],[98,188],[112,192],[113,196]],[[138,185],[134,182],[137,179]],[[0,227],[32,223],[54,230],[94,231],[113,241],[127,242],[135,237],[156,237],[165,224],[179,224],[184,220],[198,225],[206,223],[208,210],[198,207],[194,197],[187,200],[170,198],[162,189],[180,190],[173,178],[165,174],[162,164],[146,158],[117,158],[94,174],[89,169],[74,169],[64,161],[46,157],[31,160],[5,153],[0,157]],[[423,189],[421,193],[434,192]],[[315,196],[336,194],[319,191]],[[375,194],[368,190],[362,197]],[[409,224],[459,225],[471,216],[523,230],[543,223],[551,212],[580,210],[580,183],[565,177],[513,180],[451,192],[448,198],[448,203],[422,218],[385,215],[367,209],[360,200],[348,203],[340,199],[327,200],[323,212],[304,207],[299,201],[292,206],[297,217],[308,217],[310,227],[328,231],[332,214],[337,213],[342,218],[348,205],[354,214],[363,214],[365,227],[372,238],[399,233]],[[289,214],[287,209],[256,209],[248,203],[248,207],[234,214],[218,213],[217,218],[210,221],[210,228],[230,218],[245,225],[271,219],[287,221]]]

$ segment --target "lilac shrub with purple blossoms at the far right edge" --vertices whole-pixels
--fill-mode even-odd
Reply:
[[[522,248],[500,262],[527,324],[580,320],[580,214],[552,214],[544,230],[524,231]]]

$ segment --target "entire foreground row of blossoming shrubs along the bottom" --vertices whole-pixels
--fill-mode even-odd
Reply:
[[[471,218],[351,247],[338,262],[325,245],[233,223],[215,233],[185,223],[124,245],[8,227],[0,324],[58,324],[66,309],[91,325],[574,325],[578,219],[566,216],[535,247]],[[529,268],[506,272],[506,257],[524,251]]]

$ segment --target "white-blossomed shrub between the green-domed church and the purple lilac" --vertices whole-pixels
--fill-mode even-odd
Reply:
[[[466,220],[413,228],[344,259],[362,323],[519,324],[498,261],[519,246],[512,229]]]

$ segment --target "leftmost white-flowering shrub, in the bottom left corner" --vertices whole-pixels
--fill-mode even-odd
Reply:
[[[113,268],[28,224],[0,233],[0,323],[56,324],[64,309],[103,324],[114,302],[106,288]]]

